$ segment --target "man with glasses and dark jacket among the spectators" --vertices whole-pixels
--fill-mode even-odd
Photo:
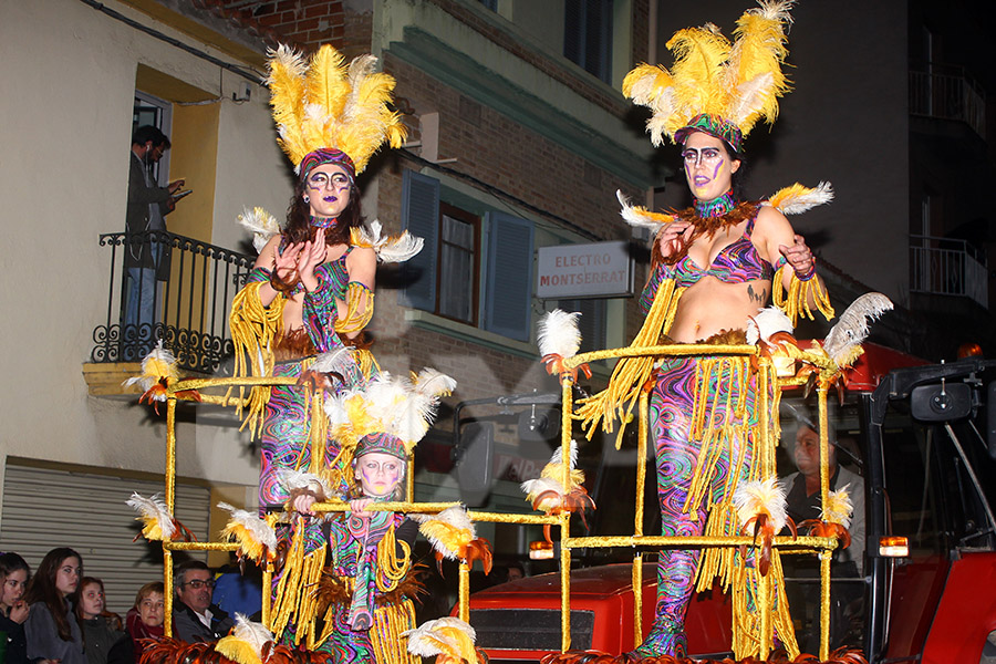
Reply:
[[[188,560],[173,577],[173,635],[187,643],[217,641],[228,634],[235,621],[211,603],[215,579],[199,560]]]

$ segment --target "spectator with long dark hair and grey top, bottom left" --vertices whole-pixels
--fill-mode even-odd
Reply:
[[[83,633],[72,618],[69,601],[82,574],[80,554],[60,547],[45,553],[31,578],[27,595],[31,610],[24,623],[24,636],[28,658],[37,664],[86,664]]]

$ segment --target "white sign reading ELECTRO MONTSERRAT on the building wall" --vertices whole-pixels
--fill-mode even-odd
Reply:
[[[633,292],[627,242],[540,247],[536,297],[541,300],[621,298]]]

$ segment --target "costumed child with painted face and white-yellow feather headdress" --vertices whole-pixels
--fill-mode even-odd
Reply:
[[[439,397],[455,386],[434,370],[424,370],[414,383],[383,373],[325,403],[330,432],[353,459],[353,485],[341,496],[350,510],[332,512],[325,523],[330,562],[318,603],[326,609],[322,634],[311,646],[331,653],[335,664],[417,664],[402,633],[415,627],[412,596],[418,584],[411,550],[418,525],[404,513],[370,507],[405,499],[412,450],[428,430]],[[317,518],[314,501],[301,494],[293,507]]]

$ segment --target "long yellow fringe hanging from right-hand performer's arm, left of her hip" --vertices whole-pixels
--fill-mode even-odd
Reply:
[[[665,279],[657,288],[654,302],[646,314],[646,320],[630,347],[647,347],[657,345],[661,335],[665,334],[674,322],[677,312],[677,303],[685,292],[684,288],[675,288],[673,279]],[[587,430],[589,438],[594,434],[595,427],[602,423],[602,429],[611,434],[613,421],[618,417],[620,436],[615,446],[622,444],[622,432],[632,417],[633,407],[636,404],[643,384],[654,371],[654,357],[624,357],[615,365],[609,386],[598,394],[578,402],[574,419],[581,421],[581,426]]]

